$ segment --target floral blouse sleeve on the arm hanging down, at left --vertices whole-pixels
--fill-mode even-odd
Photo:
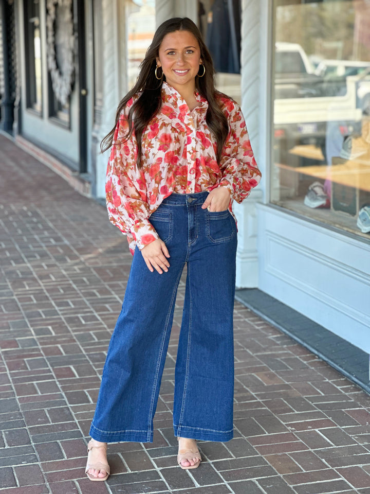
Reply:
[[[144,173],[136,167],[135,132],[129,139],[127,113],[133,104],[128,101],[117,122],[106,174],[106,204],[109,220],[127,235],[130,250],[139,249],[158,237],[149,221]]]

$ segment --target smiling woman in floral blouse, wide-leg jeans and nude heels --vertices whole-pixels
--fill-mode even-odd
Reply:
[[[233,437],[236,225],[261,173],[238,105],[214,89],[210,54],[187,18],[165,21],[120,102],[107,169],[109,219],[134,254],[91,424],[86,473],[108,478],[108,442],[153,441],[177,286],[187,264],[175,368],[178,463],[196,439]]]

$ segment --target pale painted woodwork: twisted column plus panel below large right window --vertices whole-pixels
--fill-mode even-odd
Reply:
[[[243,1],[242,109],[263,179],[259,196],[235,208],[237,286],[255,276],[255,286],[370,353],[370,242],[269,205],[272,20],[272,0]]]

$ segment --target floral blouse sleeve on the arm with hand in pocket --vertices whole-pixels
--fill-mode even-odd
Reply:
[[[232,199],[241,203],[260,182],[261,171],[255,162],[239,105],[230,98],[221,98],[221,102],[228,119],[229,134],[220,161],[222,179],[219,185],[227,187]]]

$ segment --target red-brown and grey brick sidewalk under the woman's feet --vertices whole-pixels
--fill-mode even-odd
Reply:
[[[131,255],[105,209],[0,135],[0,488],[4,494],[370,494],[370,397],[235,305],[235,438],[176,466],[181,281],[153,444],[108,447],[84,475],[90,420]]]

